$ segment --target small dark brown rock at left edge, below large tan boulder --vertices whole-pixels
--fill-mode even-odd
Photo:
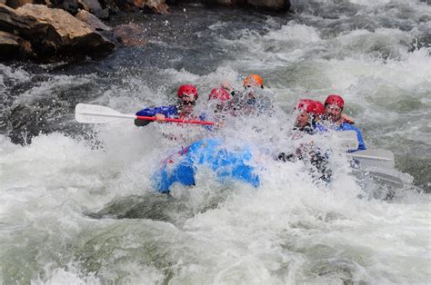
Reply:
[[[32,58],[32,44],[16,34],[0,31],[0,60]]]

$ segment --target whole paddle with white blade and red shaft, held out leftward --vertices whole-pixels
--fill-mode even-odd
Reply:
[[[155,117],[148,116],[137,116],[135,114],[119,113],[111,108],[88,104],[88,103],[77,103],[75,106],[75,120],[79,123],[111,123],[118,119],[137,119],[146,121],[155,121]],[[214,125],[214,122],[208,121],[195,121],[195,120],[183,120],[183,119],[172,119],[165,118],[165,122],[170,123],[196,123],[205,125]]]

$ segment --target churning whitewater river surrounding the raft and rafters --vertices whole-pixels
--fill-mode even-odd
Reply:
[[[291,15],[200,5],[118,15],[109,24],[142,26],[144,47],[79,64],[0,64],[0,283],[429,282],[431,5],[293,5]],[[237,118],[217,135],[255,152],[258,188],[203,166],[195,187],[155,193],[160,162],[214,133],[74,119],[76,103],[122,113],[175,103],[184,83],[197,85],[204,112],[212,88],[241,88],[251,73],[276,114]],[[294,102],[329,93],[344,96],[369,148],[395,153],[404,189],[351,175],[343,156],[327,185],[302,162],[273,159],[292,149]]]

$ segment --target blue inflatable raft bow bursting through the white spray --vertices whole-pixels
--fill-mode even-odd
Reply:
[[[260,180],[254,173],[254,167],[248,164],[251,159],[252,153],[246,147],[231,152],[217,139],[197,141],[167,159],[162,168],[155,172],[155,189],[168,193],[175,182],[185,186],[195,185],[195,172],[199,165],[211,167],[221,182],[234,179],[257,187]]]

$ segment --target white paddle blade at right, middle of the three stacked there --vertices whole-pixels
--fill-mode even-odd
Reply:
[[[384,169],[395,167],[394,153],[386,150],[365,150],[349,153],[348,155],[366,166],[375,166]]]

